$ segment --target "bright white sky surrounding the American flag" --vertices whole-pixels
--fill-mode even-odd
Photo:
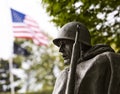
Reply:
[[[32,17],[40,29],[53,38],[57,36],[57,28],[50,22],[50,16],[41,5],[41,0],[0,0],[0,59],[11,57],[13,48],[13,32],[10,8]],[[3,32],[4,31],[4,32]]]

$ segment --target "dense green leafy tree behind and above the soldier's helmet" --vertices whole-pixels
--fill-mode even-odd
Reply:
[[[120,52],[119,0],[42,0],[56,26],[70,21],[84,23],[92,44],[106,43]]]

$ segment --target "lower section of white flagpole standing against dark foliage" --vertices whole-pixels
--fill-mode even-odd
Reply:
[[[14,76],[13,76],[13,57],[9,59],[9,70],[10,70],[10,88],[11,88],[11,94],[15,94],[15,89],[14,89]]]

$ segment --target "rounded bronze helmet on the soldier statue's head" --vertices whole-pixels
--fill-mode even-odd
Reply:
[[[87,29],[86,26],[84,26],[82,23],[80,22],[69,22],[67,24],[65,24],[61,30],[58,33],[57,38],[55,38],[53,40],[53,43],[57,46],[59,46],[59,43],[61,40],[67,39],[67,40],[75,40],[75,35],[76,35],[76,30],[77,29],[77,25],[79,25],[79,39],[78,41],[87,45],[87,46],[91,46],[91,37],[90,37],[90,33]]]

